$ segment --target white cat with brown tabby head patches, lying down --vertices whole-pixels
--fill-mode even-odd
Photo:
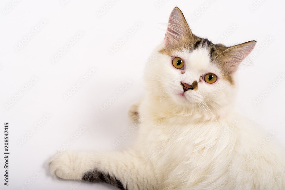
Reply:
[[[192,33],[175,7],[131,105],[139,136],[125,151],[55,154],[52,174],[119,189],[285,189],[285,154],[235,111],[235,73],[256,41],[227,47]]]

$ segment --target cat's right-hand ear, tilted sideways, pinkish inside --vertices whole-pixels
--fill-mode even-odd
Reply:
[[[255,44],[256,41],[249,41],[224,50],[220,57],[224,70],[229,75],[237,71],[239,64],[250,54]]]

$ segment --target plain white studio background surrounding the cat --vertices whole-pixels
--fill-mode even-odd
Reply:
[[[72,142],[69,150],[114,150],[112,144],[131,132],[129,105],[144,94],[143,68],[152,49],[162,42],[165,24],[175,6],[182,10],[194,34],[213,43],[220,40],[231,46],[257,40],[254,66],[238,70],[237,102],[245,115],[268,133],[276,132],[275,137],[285,145],[285,80],[274,88],[270,86],[285,71],[283,1],[114,0],[100,17],[101,8],[110,1],[23,0],[13,7],[11,2],[3,0],[0,4],[0,155],[5,152],[5,122],[9,122],[11,153],[9,187],[4,185],[4,156],[0,156],[0,189],[72,189],[75,181],[55,179],[46,166],[48,159],[68,140]],[[9,11],[4,13],[6,9]],[[47,22],[38,26],[42,19]],[[142,25],[127,35],[137,22]],[[35,33],[34,27],[39,31]],[[84,34],[70,46],[69,40],[78,31]],[[29,34],[32,38],[16,50],[15,46]],[[111,54],[110,49],[124,36],[127,40]],[[266,47],[261,48],[262,44]],[[65,46],[68,50],[53,64],[51,59]],[[83,82],[81,78],[90,68],[97,71]],[[31,85],[32,77],[37,80],[25,91],[23,86]],[[119,94],[117,90],[127,80],[132,81],[131,85]],[[66,100],[64,95],[78,82],[81,86]],[[270,92],[254,105],[253,101],[267,88]],[[6,108],[19,93],[22,96]],[[100,107],[113,95],[117,99],[101,112]],[[44,121],[45,114],[50,117]],[[40,121],[44,123],[36,128],[35,123]],[[72,138],[81,125],[87,129]],[[27,136],[32,128],[34,133]],[[28,138],[19,145],[25,135]],[[131,132],[116,150],[131,146],[135,136]],[[35,172],[40,175],[29,183]],[[76,189],[115,188],[81,183]]]

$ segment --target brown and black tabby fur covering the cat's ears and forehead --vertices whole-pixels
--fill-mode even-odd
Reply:
[[[255,44],[256,41],[249,41],[226,47],[223,44],[213,44],[208,39],[200,38],[192,33],[183,13],[176,7],[170,14],[164,38],[164,47],[159,52],[175,57],[177,52],[188,51],[191,53],[194,50],[206,49],[211,64],[221,70],[222,75],[219,77],[233,85],[233,73],[237,71],[239,64],[253,50]],[[184,72],[187,72],[187,70]]]

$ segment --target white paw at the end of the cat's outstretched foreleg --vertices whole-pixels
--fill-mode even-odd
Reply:
[[[63,179],[81,180],[82,173],[78,171],[75,162],[78,153],[75,151],[64,151],[56,153],[49,160],[50,172]]]

